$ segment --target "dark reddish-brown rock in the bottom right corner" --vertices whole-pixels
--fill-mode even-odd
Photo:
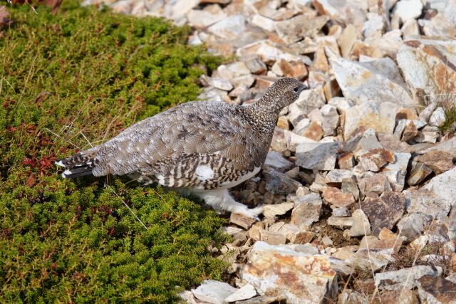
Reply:
[[[418,282],[421,303],[456,303],[456,283],[434,276],[423,276]]]

